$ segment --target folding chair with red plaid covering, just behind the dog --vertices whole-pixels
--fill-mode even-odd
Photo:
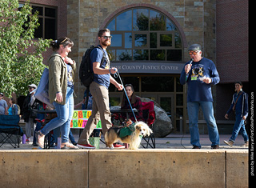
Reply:
[[[144,122],[153,130],[153,133],[148,137],[143,137],[146,141],[146,146],[142,144],[144,148],[155,148],[155,137],[154,137],[154,120],[155,120],[155,112],[154,112],[154,102],[142,102],[142,113]],[[151,143],[150,143],[151,142]]]

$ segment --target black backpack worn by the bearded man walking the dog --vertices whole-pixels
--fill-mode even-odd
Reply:
[[[94,50],[94,48],[98,48],[102,50],[103,58],[100,66],[106,59],[106,54],[104,53],[103,49],[100,46],[90,46],[90,48],[86,50],[86,53],[84,54],[84,56],[82,56],[82,62],[79,67],[79,78],[80,78],[81,84],[83,86],[86,86],[86,88],[88,89],[89,89],[90,83],[93,82],[94,80],[94,71],[91,68],[91,63],[90,63],[90,53],[92,50]]]

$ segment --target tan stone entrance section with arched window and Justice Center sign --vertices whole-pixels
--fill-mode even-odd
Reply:
[[[187,47],[199,43],[204,56],[216,61],[215,7],[215,1],[68,1],[72,56],[80,62],[86,49],[98,43],[98,30],[109,28],[111,66],[138,96],[158,102],[178,131],[186,119],[186,86],[180,85],[179,74],[190,60]],[[82,98],[85,88],[76,84]],[[118,105],[121,96],[110,87],[111,105]]]

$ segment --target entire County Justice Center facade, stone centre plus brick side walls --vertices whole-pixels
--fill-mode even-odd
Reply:
[[[46,28],[53,28],[53,39],[71,38],[74,47],[70,57],[78,63],[87,48],[98,44],[98,30],[109,28],[113,36],[108,48],[111,66],[118,68],[124,84],[134,85],[138,96],[154,99],[170,114],[174,132],[180,130],[181,121],[183,130],[186,128],[186,86],[179,83],[179,76],[185,62],[190,60],[187,48],[191,44],[200,44],[203,56],[213,60],[219,71],[221,82],[213,86],[217,120],[223,119],[230,106],[234,82],[240,80],[248,85],[248,58],[231,55],[235,51],[248,56],[248,0],[31,0],[30,3],[38,6],[37,10],[55,9],[55,27],[50,25],[52,20],[47,20],[53,19],[49,13],[39,14],[42,37],[47,36]],[[234,6],[237,3],[239,10]],[[51,50],[46,52],[45,59],[50,53]],[[237,76],[235,70],[241,70],[242,76]],[[74,89],[78,103],[86,90],[78,80],[78,70]],[[110,86],[112,106],[118,105],[121,96],[121,91]],[[202,113],[199,119],[203,119]]]

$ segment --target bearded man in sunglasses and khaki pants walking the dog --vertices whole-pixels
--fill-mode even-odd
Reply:
[[[82,131],[80,138],[78,139],[79,147],[86,149],[94,149],[94,146],[90,145],[89,137],[96,127],[96,114],[99,112],[102,122],[102,132],[105,135],[106,130],[111,126],[111,113],[109,104],[109,92],[108,88],[110,83],[114,84],[118,90],[122,90],[122,85],[115,81],[110,74],[115,74],[118,70],[114,67],[110,68],[110,59],[106,52],[107,46],[111,44],[110,30],[103,29],[98,31],[99,48],[94,48],[90,53],[90,62],[94,71],[94,81],[90,84],[90,94],[93,96],[93,109],[86,123],[85,129]],[[103,53],[105,55],[103,55]],[[105,58],[102,62],[102,58]],[[102,64],[101,64],[102,62]],[[115,145],[115,147],[124,147],[121,145]]]

